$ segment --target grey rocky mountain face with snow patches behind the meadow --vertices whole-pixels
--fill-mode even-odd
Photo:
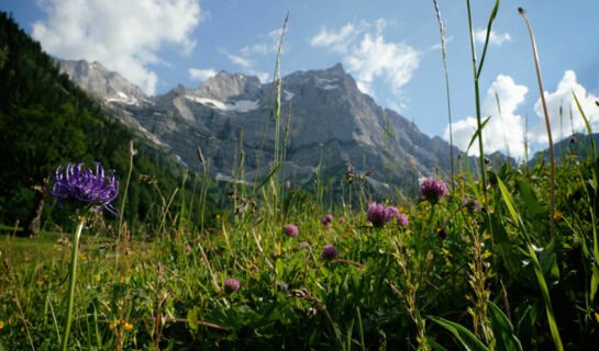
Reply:
[[[117,115],[123,121],[169,148],[188,168],[201,169],[199,145],[212,160],[210,172],[217,179],[230,179],[240,171],[241,150],[246,181],[260,181],[268,173],[276,135],[273,84],[221,71],[198,89],[179,86],[147,98],[98,63],[66,61],[62,69],[113,111],[121,111]],[[114,98],[121,92],[129,100]],[[371,170],[371,184],[390,191],[390,185],[406,190],[414,178],[435,174],[436,169],[446,174],[450,169],[447,143],[429,138],[403,116],[378,106],[358,90],[341,64],[296,71],[282,79],[280,140],[288,117],[286,178],[307,181],[317,169],[321,177],[339,178],[348,168],[357,173]]]

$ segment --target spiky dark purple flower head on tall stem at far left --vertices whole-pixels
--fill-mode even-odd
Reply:
[[[119,194],[119,182],[114,171],[109,177],[100,162],[96,162],[96,173],[84,169],[85,163],[68,163],[66,169],[58,166],[54,173],[54,185],[48,194],[58,200],[57,205],[75,211],[77,214],[88,208],[93,211],[104,207],[119,217],[119,212],[110,204]]]

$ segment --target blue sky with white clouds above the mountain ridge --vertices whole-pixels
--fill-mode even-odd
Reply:
[[[484,36],[495,1],[470,2],[476,37]],[[453,136],[464,148],[476,125],[466,1],[439,0],[439,7],[446,25]],[[557,139],[583,129],[572,91],[599,128],[599,1],[503,0],[499,5],[480,77],[482,114],[491,115],[484,140],[488,151],[509,148],[523,158],[524,134],[536,150],[546,146],[546,132],[530,38],[518,7],[526,9],[534,30]],[[432,1],[4,0],[0,10],[12,12],[49,54],[99,60],[149,94],[179,83],[196,88],[222,69],[271,79],[276,43],[289,11],[284,76],[342,63],[377,103],[413,118],[428,135],[448,139],[441,35]],[[476,47],[480,53],[482,43],[477,41]]]

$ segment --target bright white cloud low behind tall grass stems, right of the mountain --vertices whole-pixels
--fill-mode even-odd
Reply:
[[[480,106],[482,116],[490,116],[482,129],[485,154],[502,151],[515,158],[524,156],[524,118],[517,114],[529,89],[514,83],[509,76],[499,75],[487,91]],[[482,121],[481,121],[482,122]],[[476,118],[468,116],[452,123],[454,145],[466,151],[476,132]],[[445,140],[450,140],[450,126],[445,128]],[[478,141],[470,147],[469,155],[478,155]]]

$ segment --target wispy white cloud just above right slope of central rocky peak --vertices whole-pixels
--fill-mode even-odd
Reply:
[[[382,31],[388,24],[379,19],[375,23],[347,23],[339,31],[323,27],[310,39],[310,45],[343,54],[343,64],[356,78],[362,92],[374,97],[373,82],[381,78],[400,95],[401,88],[420,65],[420,53],[404,43],[387,42]]]

